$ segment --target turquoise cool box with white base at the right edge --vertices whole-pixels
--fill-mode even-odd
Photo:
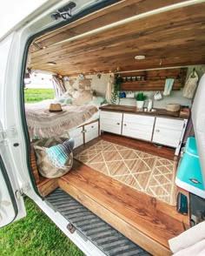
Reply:
[[[178,166],[175,179],[176,185],[188,192],[203,197],[204,185],[202,180],[202,170],[194,137],[189,137],[182,160]]]

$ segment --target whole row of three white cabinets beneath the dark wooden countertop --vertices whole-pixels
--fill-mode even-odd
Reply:
[[[118,111],[100,113],[102,131],[168,145],[175,148],[175,155],[180,151],[187,121],[187,119],[157,118]]]

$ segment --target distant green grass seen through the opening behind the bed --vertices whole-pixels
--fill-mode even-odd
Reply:
[[[25,103],[35,103],[43,99],[52,99],[55,97],[53,89],[33,89],[24,90]]]

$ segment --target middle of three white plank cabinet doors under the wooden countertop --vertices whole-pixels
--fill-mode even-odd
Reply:
[[[123,114],[122,135],[151,140],[155,117]]]

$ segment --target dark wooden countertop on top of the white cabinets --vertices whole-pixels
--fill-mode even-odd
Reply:
[[[119,111],[119,112],[128,112],[136,113],[140,115],[148,115],[154,117],[167,117],[167,118],[179,118],[180,111],[172,112],[165,109],[154,108],[155,111],[138,111],[136,106],[127,106],[127,105],[116,105],[116,104],[107,104],[100,107],[102,111]]]

